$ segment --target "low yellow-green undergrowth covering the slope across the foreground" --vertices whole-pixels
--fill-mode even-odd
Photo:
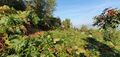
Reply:
[[[113,35],[113,34],[111,34]],[[116,36],[117,35],[117,36]],[[105,41],[97,29],[54,30],[35,37],[12,35],[4,42],[1,57],[119,57],[120,32]]]

